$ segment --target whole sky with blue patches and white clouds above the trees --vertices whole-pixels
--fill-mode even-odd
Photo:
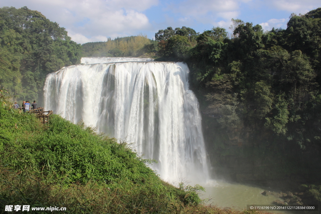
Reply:
[[[261,24],[264,30],[286,28],[291,13],[321,7],[320,0],[0,0],[0,7],[27,6],[56,21],[77,43],[138,35],[154,38],[169,26],[196,32],[224,27],[231,19]]]

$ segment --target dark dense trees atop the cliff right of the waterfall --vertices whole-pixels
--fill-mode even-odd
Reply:
[[[321,8],[292,14],[285,30],[232,21],[232,38],[219,27],[199,35],[160,30],[158,60],[188,63],[205,113],[220,115],[221,128],[255,125],[302,149],[320,148]]]

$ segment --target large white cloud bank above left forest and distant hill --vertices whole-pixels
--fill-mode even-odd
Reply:
[[[11,0],[10,3],[0,0],[0,6],[27,5],[31,10],[40,11],[50,21],[67,28],[77,43],[149,30],[151,24],[142,12],[157,4],[158,0]]]

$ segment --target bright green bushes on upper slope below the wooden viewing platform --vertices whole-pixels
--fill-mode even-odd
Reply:
[[[62,179],[65,184],[142,183],[157,178],[125,143],[93,134],[60,116],[52,116],[50,125],[44,126],[32,115],[5,115],[0,133],[6,150],[1,162],[12,170]],[[27,166],[30,170],[25,170]]]

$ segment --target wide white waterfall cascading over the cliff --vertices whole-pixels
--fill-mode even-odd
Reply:
[[[198,101],[185,63],[149,58],[84,57],[50,73],[45,109],[132,142],[168,181],[208,179]]]

